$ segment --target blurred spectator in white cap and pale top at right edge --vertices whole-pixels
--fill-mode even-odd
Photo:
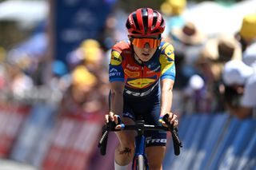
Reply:
[[[222,77],[226,85],[226,108],[230,114],[239,119],[255,116],[256,65],[250,67],[239,60],[228,61]]]

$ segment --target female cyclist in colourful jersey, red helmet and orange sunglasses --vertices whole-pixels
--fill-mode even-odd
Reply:
[[[129,41],[112,47],[110,77],[110,113],[106,123],[118,116],[126,125],[142,118],[149,125],[165,125],[162,117],[178,125],[170,112],[175,78],[174,47],[162,41],[165,21],[156,10],[140,8],[126,22]],[[119,144],[115,149],[116,170],[126,169],[134,154],[134,132],[116,132]],[[162,169],[166,150],[166,132],[146,132],[146,156],[150,170]]]

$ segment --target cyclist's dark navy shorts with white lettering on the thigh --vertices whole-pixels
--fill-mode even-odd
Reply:
[[[141,119],[147,125],[159,125],[160,98],[159,94],[150,95],[143,99],[124,97],[122,117],[129,117],[133,121]],[[145,131],[146,147],[165,146],[166,132],[164,131]]]

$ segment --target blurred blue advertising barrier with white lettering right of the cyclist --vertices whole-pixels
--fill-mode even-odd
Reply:
[[[181,117],[183,148],[174,156],[167,148],[163,169],[246,169],[256,167],[256,120],[238,120],[228,113]],[[185,132],[186,131],[186,132]]]

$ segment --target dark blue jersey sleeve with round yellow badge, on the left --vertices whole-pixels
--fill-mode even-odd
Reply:
[[[122,68],[122,55],[121,53],[116,50],[112,49],[111,51],[111,58],[109,64],[109,81],[125,81],[124,78],[124,71]]]

